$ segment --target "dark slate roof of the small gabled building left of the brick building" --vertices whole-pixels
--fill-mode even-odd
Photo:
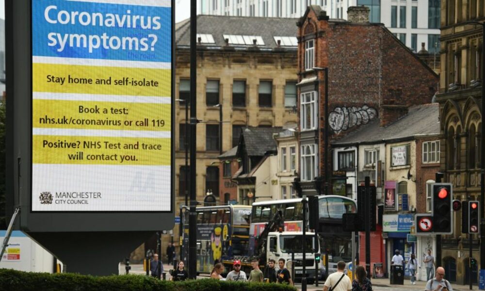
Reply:
[[[273,134],[284,131],[282,128],[248,127],[242,130],[242,138],[248,156],[264,156],[268,151],[276,151],[276,141]],[[240,139],[240,143],[242,140]],[[238,156],[239,150],[238,150]]]

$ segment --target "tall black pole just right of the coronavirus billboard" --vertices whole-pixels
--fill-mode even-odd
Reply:
[[[196,279],[197,267],[197,206],[195,193],[197,125],[197,1],[190,1],[190,208],[189,208],[189,279]]]

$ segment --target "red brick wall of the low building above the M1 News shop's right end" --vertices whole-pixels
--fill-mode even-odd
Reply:
[[[437,141],[439,137],[419,138],[416,140],[416,210],[417,213],[426,213],[426,181],[435,180],[435,173],[439,172],[439,162],[425,163],[422,161],[423,142]]]

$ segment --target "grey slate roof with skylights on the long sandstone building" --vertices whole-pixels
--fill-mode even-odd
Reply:
[[[185,21],[185,22],[184,22]],[[176,46],[190,46],[190,21],[184,20],[176,24]],[[247,17],[247,16],[217,16],[197,15],[197,33],[212,34],[215,44],[202,44],[208,49],[226,46],[223,34],[261,36],[264,46],[258,46],[261,50],[271,50],[277,47],[273,36],[296,37],[298,18],[275,18],[275,17]],[[234,48],[246,49],[251,46],[230,45]],[[282,47],[294,50],[297,47]]]

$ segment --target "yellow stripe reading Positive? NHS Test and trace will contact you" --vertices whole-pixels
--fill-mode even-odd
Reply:
[[[39,164],[170,165],[169,138],[33,135]]]

